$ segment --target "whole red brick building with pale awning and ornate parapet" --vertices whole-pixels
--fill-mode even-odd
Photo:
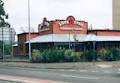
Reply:
[[[88,22],[76,20],[73,16],[68,16],[66,20],[52,21],[44,18],[38,25],[38,33],[31,33],[30,40],[32,50],[60,47],[76,51],[119,47],[119,41],[119,30],[89,30]],[[18,54],[28,54],[28,33],[18,34],[14,55]]]

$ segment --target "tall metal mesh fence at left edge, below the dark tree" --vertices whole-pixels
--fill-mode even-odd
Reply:
[[[15,42],[15,30],[10,27],[0,27],[0,59],[12,57],[12,45]]]

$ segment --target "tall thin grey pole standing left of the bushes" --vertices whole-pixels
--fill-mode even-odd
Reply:
[[[29,28],[29,60],[31,60],[31,42],[30,42],[30,0],[28,0],[28,28]]]

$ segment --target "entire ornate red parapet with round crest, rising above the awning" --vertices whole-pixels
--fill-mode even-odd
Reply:
[[[67,17],[66,20],[48,21],[44,18],[43,23],[38,25],[40,35],[45,34],[87,34],[88,23],[77,21],[73,16]]]

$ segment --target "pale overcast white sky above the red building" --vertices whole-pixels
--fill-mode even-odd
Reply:
[[[8,22],[16,33],[28,30],[28,0],[3,0]],[[112,28],[112,0],[30,0],[31,28],[37,31],[44,17],[66,19],[72,15],[85,20],[94,29]]]

